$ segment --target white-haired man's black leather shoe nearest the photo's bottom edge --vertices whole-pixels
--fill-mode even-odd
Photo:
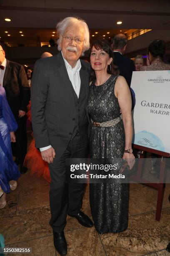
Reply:
[[[67,254],[67,242],[65,240],[64,232],[54,232],[54,246],[56,251],[62,256]]]

